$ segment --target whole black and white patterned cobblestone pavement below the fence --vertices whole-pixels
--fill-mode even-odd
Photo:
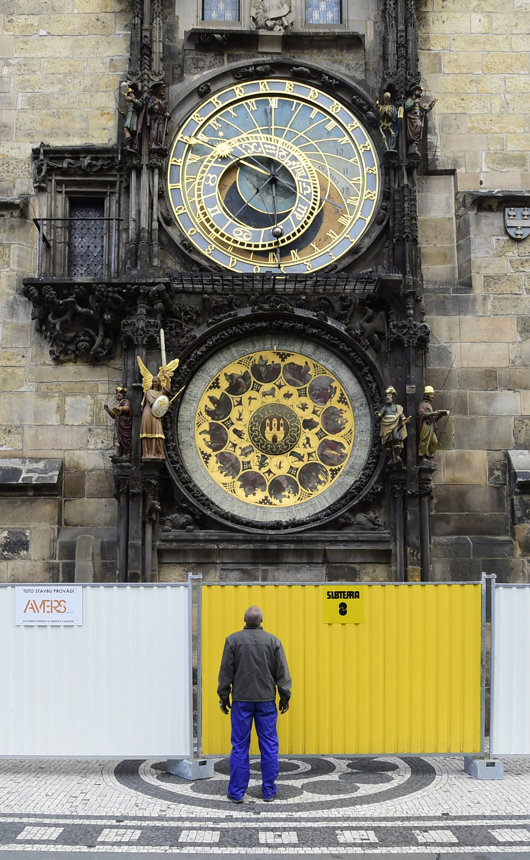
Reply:
[[[282,759],[265,804],[226,797],[228,760],[189,783],[161,761],[3,760],[0,851],[423,856],[530,851],[530,759],[477,782],[461,758]]]

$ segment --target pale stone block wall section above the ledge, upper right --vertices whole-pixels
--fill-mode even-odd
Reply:
[[[530,12],[524,0],[420,0],[430,159],[457,190],[529,188]]]

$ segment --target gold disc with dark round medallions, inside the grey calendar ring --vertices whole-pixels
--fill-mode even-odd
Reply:
[[[242,355],[208,381],[195,444],[211,478],[249,505],[289,507],[335,482],[355,435],[349,397],[302,353]]]

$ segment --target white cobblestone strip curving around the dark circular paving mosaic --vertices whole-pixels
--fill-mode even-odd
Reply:
[[[434,783],[411,796],[344,808],[309,809],[299,811],[297,818],[318,820],[335,815],[338,819],[374,816],[401,817],[449,815],[527,815],[530,796],[530,760],[507,759],[503,781],[478,782],[464,771],[461,758],[440,757],[426,760],[437,771]],[[104,814],[143,818],[204,817],[204,808],[186,802],[168,803],[146,798],[134,789],[121,785],[113,775],[117,762],[103,761],[17,761],[0,762],[0,809],[20,814]],[[80,791],[82,785],[82,792]],[[177,799],[175,797],[175,799]],[[247,804],[242,805],[243,808]],[[210,819],[241,820],[243,810],[209,809]],[[267,813],[272,814],[272,813]],[[289,820],[288,808],[275,807],[275,820]]]

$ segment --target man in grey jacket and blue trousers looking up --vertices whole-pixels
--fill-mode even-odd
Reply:
[[[276,688],[280,714],[289,710],[291,679],[283,645],[261,626],[258,606],[245,612],[245,627],[228,636],[222,652],[217,695],[223,714],[230,708],[232,689],[232,753],[228,800],[242,803],[250,779],[250,733],[258,734],[261,754],[261,790],[265,803],[276,797],[279,771]]]

